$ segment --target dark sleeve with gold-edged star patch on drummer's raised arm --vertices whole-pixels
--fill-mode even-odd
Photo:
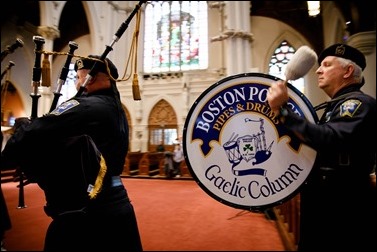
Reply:
[[[369,97],[348,98],[337,102],[318,124],[288,110],[284,126],[316,150],[354,148],[365,139],[375,139],[376,103]],[[374,136],[368,136],[368,134]],[[360,146],[361,146],[360,145]]]

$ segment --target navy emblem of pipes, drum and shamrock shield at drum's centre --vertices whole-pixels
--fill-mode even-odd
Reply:
[[[264,120],[260,118],[259,120],[252,120],[250,118],[245,118],[245,123],[260,123],[260,132],[254,132],[252,134],[238,136],[238,134],[232,134],[229,141],[227,141],[223,148],[227,154],[229,162],[232,164],[232,168],[237,166],[242,160],[246,162],[252,161],[252,165],[260,164],[265,162],[271,157],[271,146],[274,141],[270,143],[267,148],[266,135],[264,131]],[[254,168],[252,168],[254,169]],[[249,169],[250,170],[250,169]],[[258,168],[258,170],[260,170]],[[244,172],[244,174],[253,174],[251,170],[249,172]],[[240,175],[240,173],[238,172]]]

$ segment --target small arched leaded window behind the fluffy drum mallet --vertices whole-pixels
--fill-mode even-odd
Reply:
[[[269,74],[284,80],[285,68],[295,52],[296,50],[287,41],[284,40],[283,42],[281,42],[281,44],[275,49],[275,52],[271,57],[269,64]],[[304,78],[289,82],[301,93],[304,93]]]

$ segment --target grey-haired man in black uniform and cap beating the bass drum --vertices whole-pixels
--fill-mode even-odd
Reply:
[[[376,198],[370,174],[376,162],[376,100],[363,93],[363,53],[334,44],[318,57],[318,87],[329,97],[317,124],[287,106],[277,81],[268,103],[280,122],[317,151],[301,190],[298,250],[376,251]]]

